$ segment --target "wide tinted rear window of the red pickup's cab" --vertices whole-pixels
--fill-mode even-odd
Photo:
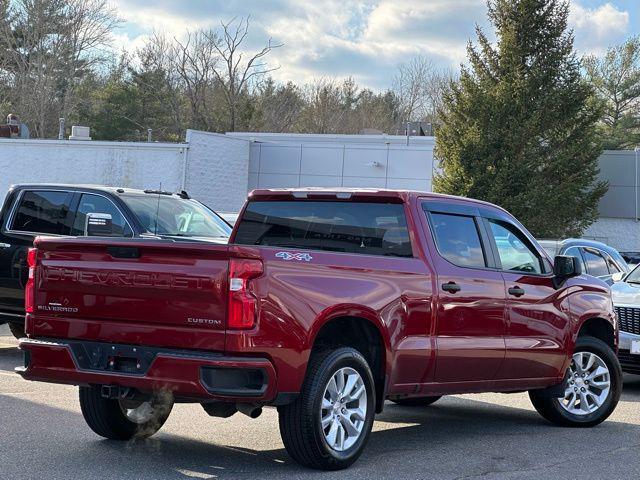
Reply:
[[[413,256],[404,207],[394,203],[250,202],[235,243]]]

